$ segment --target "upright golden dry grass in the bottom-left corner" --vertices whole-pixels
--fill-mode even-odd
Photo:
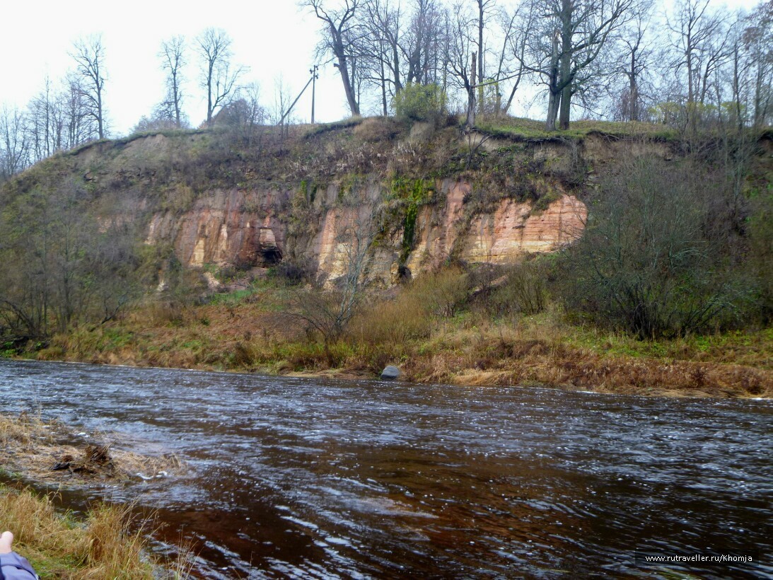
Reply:
[[[0,486],[0,528],[15,534],[14,548],[41,578],[186,578],[189,554],[161,568],[148,556],[148,521],[137,522],[131,507],[100,503],[83,521],[58,513],[54,496]]]

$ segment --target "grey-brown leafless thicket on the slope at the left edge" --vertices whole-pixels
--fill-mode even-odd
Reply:
[[[74,323],[105,322],[137,290],[136,237],[100,220],[76,180],[5,196],[0,213],[0,334],[43,339]]]

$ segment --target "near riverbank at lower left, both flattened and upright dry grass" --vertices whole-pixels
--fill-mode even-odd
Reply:
[[[131,506],[100,503],[75,517],[56,509],[55,494],[22,486],[84,488],[174,476],[175,456],[149,457],[121,449],[108,435],[76,432],[60,421],[22,412],[0,414],[0,529],[15,534],[15,549],[40,578],[186,578],[188,555],[157,564],[148,554],[152,521],[137,521]]]

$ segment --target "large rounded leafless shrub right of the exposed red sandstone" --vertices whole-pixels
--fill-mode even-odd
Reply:
[[[601,186],[581,241],[564,256],[564,300],[641,338],[733,322],[749,292],[738,259],[742,207],[697,164],[639,158]]]

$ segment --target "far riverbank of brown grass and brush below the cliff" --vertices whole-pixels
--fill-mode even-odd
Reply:
[[[376,302],[327,345],[288,314],[287,288],[253,285],[208,305],[150,305],[55,336],[23,356],[137,367],[535,385],[676,397],[773,397],[773,329],[642,341],[567,322],[556,309],[493,319],[427,316],[410,296]]]

